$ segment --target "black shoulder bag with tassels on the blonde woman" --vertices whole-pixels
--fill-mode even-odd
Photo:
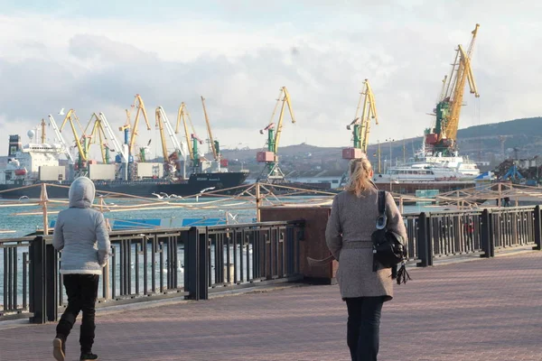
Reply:
[[[391,277],[397,279],[397,284],[410,280],[410,275],[406,272],[406,248],[403,245],[403,237],[388,230],[385,190],[378,190],[377,230],[373,232],[371,238],[373,242],[373,272],[377,272],[378,264],[382,264],[384,268],[391,268]],[[397,264],[401,264],[398,271]]]

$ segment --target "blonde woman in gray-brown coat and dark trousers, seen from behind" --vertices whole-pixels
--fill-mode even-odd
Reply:
[[[350,182],[333,199],[325,238],[339,262],[337,281],[348,309],[347,344],[352,361],[376,361],[380,313],[393,298],[391,269],[373,271],[371,235],[378,218],[378,189],[371,181],[372,166],[363,157],[350,162]],[[401,214],[387,193],[388,230],[406,239]]]

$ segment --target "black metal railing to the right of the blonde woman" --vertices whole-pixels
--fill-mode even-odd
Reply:
[[[425,267],[435,258],[492,257],[495,250],[528,245],[539,250],[540,218],[540,206],[406,215],[408,258]]]

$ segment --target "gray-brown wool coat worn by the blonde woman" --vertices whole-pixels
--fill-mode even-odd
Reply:
[[[403,236],[406,227],[393,197],[387,193],[388,229]],[[378,218],[378,190],[365,190],[361,197],[342,191],[333,199],[332,214],[325,230],[325,240],[339,261],[337,282],[342,298],[385,296],[393,298],[391,269],[378,266],[373,272],[371,234]]]

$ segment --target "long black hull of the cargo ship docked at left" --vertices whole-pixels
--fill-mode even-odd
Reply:
[[[107,197],[122,197],[116,193],[127,194],[137,197],[154,198],[155,194],[167,193],[168,195],[176,195],[180,197],[199,194],[201,190],[213,188],[216,190],[226,190],[237,187],[247,179],[247,173],[244,172],[224,172],[224,173],[196,173],[192,174],[188,180],[169,181],[169,180],[95,180],[94,184],[98,195],[109,195]],[[57,184],[70,186],[70,182],[51,182],[46,184]],[[23,184],[0,184],[0,197],[3,199],[20,199],[28,197],[30,199],[39,199],[42,193],[41,187],[23,188]],[[9,191],[5,191],[9,190]],[[231,194],[236,190],[232,190]],[[47,196],[49,199],[67,199],[68,188],[63,187],[47,187]]]

